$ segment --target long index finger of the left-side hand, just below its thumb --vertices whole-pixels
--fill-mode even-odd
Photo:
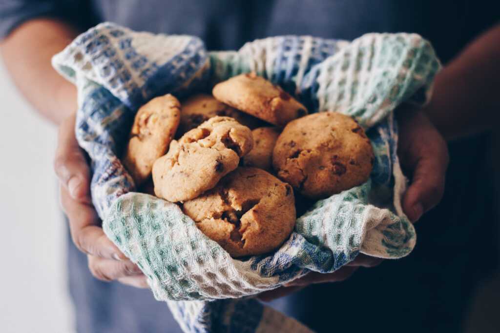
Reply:
[[[127,259],[98,226],[99,218],[91,205],[78,202],[60,186],[62,210],[69,220],[74,245],[83,253],[106,259]]]

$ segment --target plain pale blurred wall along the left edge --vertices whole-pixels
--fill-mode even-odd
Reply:
[[[0,332],[70,333],[65,229],[52,171],[56,129],[22,99],[1,63],[0,101]]]

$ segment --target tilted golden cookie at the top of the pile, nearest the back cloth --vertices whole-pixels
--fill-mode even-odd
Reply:
[[[307,114],[305,106],[253,72],[216,84],[212,94],[223,103],[278,126]]]

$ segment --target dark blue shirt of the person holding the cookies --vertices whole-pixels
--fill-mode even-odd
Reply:
[[[134,30],[192,34],[211,50],[237,49],[246,41],[282,34],[353,39],[366,32],[406,31],[430,40],[446,63],[498,20],[496,6],[486,0],[2,0],[0,36],[40,16],[67,20],[81,29],[113,21]],[[444,198],[416,225],[419,242],[409,258],[360,271],[341,284],[308,287],[273,305],[319,332],[330,332],[322,319],[331,316],[338,318],[338,332],[353,327],[459,332],[470,292],[494,268],[497,253],[492,188],[484,163],[487,142],[487,136],[480,136],[449,146]],[[78,332],[180,332],[166,305],[154,301],[149,291],[93,279],[85,255],[69,239]],[[408,284],[414,288],[400,295]],[[369,311],[363,311],[359,295]],[[331,307],[332,299],[336,307]],[[388,299],[398,303],[386,304]],[[387,309],[397,313],[397,322],[383,321]]]

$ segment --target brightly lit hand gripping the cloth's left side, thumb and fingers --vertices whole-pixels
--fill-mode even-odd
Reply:
[[[65,119],[58,134],[54,160],[60,202],[69,220],[73,243],[87,254],[88,268],[101,281],[147,288],[146,278],[106,237],[90,200],[90,170],[74,136],[75,116]]]

